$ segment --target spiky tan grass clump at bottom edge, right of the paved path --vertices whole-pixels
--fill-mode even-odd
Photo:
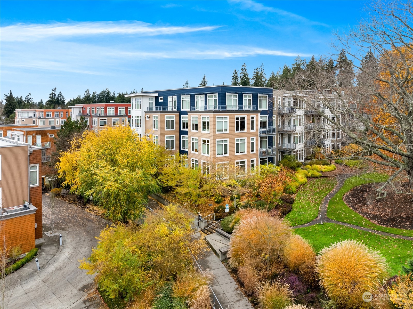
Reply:
[[[259,308],[283,309],[291,305],[293,303],[293,294],[288,288],[288,284],[282,283],[279,280],[274,280],[272,283],[268,280],[264,281],[256,289]]]

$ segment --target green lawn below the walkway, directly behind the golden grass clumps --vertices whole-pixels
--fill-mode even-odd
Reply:
[[[390,276],[396,275],[401,270],[401,265],[413,257],[413,242],[410,240],[359,231],[335,223],[316,224],[294,231],[309,240],[316,252],[339,240],[359,240],[386,258]]]

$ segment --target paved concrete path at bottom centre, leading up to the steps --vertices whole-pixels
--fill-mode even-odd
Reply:
[[[221,303],[222,309],[252,309],[252,304],[241,292],[237,283],[228,273],[224,264],[216,257],[214,252],[209,251],[203,259],[198,260],[203,269],[210,269],[215,279],[211,282],[211,288]],[[220,309],[215,304],[216,309]]]

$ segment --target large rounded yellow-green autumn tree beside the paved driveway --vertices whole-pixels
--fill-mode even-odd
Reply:
[[[155,174],[162,153],[129,127],[107,127],[85,131],[56,167],[72,193],[92,196],[108,219],[126,222],[140,216],[148,194],[159,190]]]

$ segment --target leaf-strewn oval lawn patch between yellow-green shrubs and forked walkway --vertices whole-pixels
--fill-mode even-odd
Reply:
[[[290,221],[292,226],[316,219],[321,201],[336,184],[335,178],[309,178],[307,184],[299,187],[294,204],[292,204],[292,210],[285,218]]]

